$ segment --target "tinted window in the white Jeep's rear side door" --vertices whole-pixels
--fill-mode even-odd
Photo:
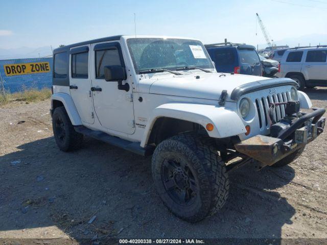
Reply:
[[[72,54],[72,78],[88,78],[88,53]]]

